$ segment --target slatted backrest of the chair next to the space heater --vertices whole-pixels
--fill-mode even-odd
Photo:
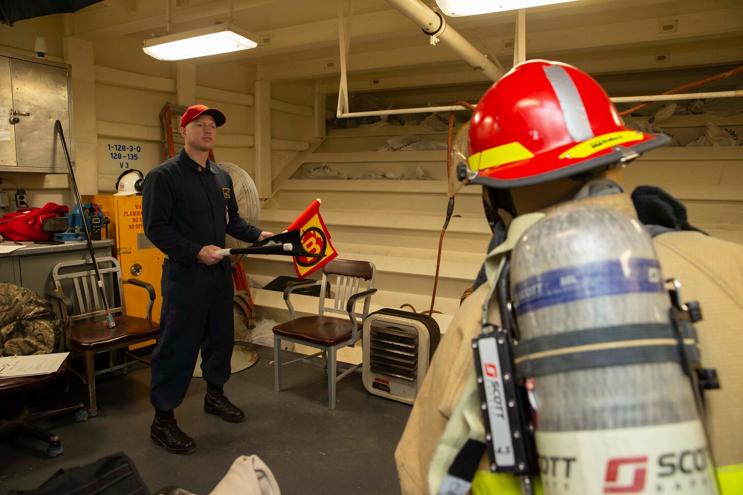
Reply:
[[[320,287],[326,287],[325,284],[329,282],[333,297],[328,299],[324,297],[324,294],[320,294],[317,314],[337,313],[347,315],[345,309],[348,299],[355,294],[374,288],[374,276],[376,274],[377,268],[374,267],[374,263],[339,258],[328,262],[322,268]],[[354,311],[354,317],[357,320],[363,322],[366,319],[369,314],[369,303],[370,298],[366,297],[363,302],[360,301],[354,306],[355,309],[362,305],[361,311]],[[354,342],[358,340],[356,333],[354,331],[352,339]],[[360,337],[361,331],[358,331],[358,334]]]

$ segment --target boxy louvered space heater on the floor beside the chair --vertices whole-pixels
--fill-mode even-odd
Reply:
[[[385,308],[363,326],[363,382],[374,395],[412,404],[441,338],[425,314]]]

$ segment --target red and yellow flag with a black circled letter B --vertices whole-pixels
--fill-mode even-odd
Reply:
[[[320,200],[312,201],[307,210],[302,215],[291,222],[286,230],[299,229],[299,236],[302,239],[302,247],[308,253],[323,253],[322,258],[305,258],[305,256],[294,256],[294,270],[296,276],[300,279],[305,278],[314,271],[325,266],[331,259],[338,256],[330,242],[330,233],[328,227],[320,216]]]

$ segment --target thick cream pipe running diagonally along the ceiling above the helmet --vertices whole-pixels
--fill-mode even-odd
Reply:
[[[432,43],[438,39],[462,57],[476,71],[483,72],[493,81],[497,81],[504,74],[487,56],[475,48],[467,39],[461,36],[454,28],[447,26],[444,16],[429,9],[421,0],[386,0],[401,13],[415,22],[432,36]]]

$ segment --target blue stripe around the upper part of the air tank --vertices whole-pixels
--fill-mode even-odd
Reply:
[[[630,258],[573,265],[534,275],[514,288],[516,314],[591,297],[665,291],[657,259]]]

